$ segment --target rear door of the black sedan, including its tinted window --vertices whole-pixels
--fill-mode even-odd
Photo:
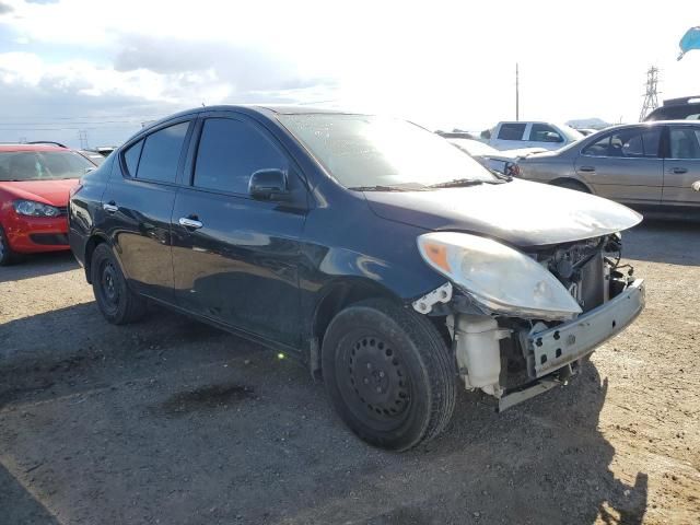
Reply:
[[[119,153],[102,198],[105,231],[139,293],[173,301],[171,214],[192,120],[174,120]]]

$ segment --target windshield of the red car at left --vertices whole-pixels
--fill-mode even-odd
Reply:
[[[72,151],[0,151],[0,180],[80,178],[94,167]]]

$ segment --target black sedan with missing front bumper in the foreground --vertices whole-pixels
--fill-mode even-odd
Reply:
[[[154,122],[69,210],[107,320],[158,302],[298,355],[392,450],[445,428],[458,376],[505,409],[629,325],[644,289],[616,269],[617,232],[640,220],[495,175],[412,124],[307,107]]]

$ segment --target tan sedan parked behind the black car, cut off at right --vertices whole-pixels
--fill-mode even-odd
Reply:
[[[700,122],[615,126],[518,161],[520,176],[638,209],[700,210]]]

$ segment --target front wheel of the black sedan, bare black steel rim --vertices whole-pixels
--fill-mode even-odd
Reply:
[[[369,300],[340,312],[324,337],[322,365],[336,411],[372,445],[406,451],[450,422],[454,358],[428,318],[393,302]]]

